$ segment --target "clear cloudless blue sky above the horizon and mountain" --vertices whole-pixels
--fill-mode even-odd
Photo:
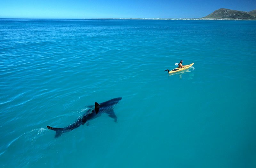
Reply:
[[[256,10],[256,0],[1,0],[0,18],[199,18],[219,8]]]

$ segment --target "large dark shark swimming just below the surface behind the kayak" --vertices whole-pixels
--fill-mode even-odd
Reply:
[[[114,112],[115,105],[122,99],[122,97],[117,97],[102,103],[95,102],[94,105],[87,106],[89,109],[84,113],[84,115],[78,117],[76,122],[69,124],[65,128],[54,128],[47,126],[48,129],[55,131],[55,138],[60,137],[63,133],[71,131],[84,125],[85,123],[88,124],[89,120],[95,119],[102,114],[107,114],[109,117],[114,119],[114,122],[117,122],[117,117]],[[94,109],[93,109],[94,107]]]

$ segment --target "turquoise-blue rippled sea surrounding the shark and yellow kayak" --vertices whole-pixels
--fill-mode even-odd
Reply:
[[[0,167],[255,168],[255,65],[256,21],[0,19]]]

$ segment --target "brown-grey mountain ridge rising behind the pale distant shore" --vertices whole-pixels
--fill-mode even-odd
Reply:
[[[215,10],[210,15],[203,18],[209,19],[256,19],[256,10],[250,12],[244,12],[239,10],[230,10],[225,8],[220,8]]]

